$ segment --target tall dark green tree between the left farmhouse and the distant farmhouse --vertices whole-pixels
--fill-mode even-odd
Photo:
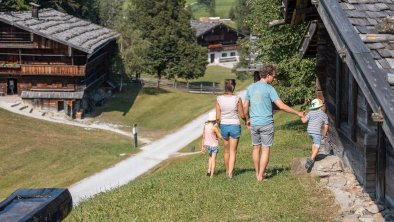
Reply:
[[[207,49],[197,45],[184,0],[133,1],[128,19],[150,43],[146,70],[157,76],[197,78],[204,75]]]

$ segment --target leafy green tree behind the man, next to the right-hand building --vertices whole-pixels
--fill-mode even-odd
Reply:
[[[288,104],[302,103],[313,96],[315,89],[314,60],[297,58],[298,45],[306,26],[289,25],[269,28],[268,23],[280,19],[279,1],[249,0],[250,27],[254,35],[260,38],[257,46],[260,51],[258,60],[264,64],[276,64],[277,88],[283,100]]]

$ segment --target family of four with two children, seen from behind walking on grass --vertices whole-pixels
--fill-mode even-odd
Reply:
[[[235,80],[224,81],[224,95],[218,96],[216,101],[216,113],[208,115],[208,121],[204,125],[201,141],[201,151],[208,152],[209,163],[207,176],[213,177],[215,171],[216,156],[219,152],[218,141],[223,141],[224,164],[226,176],[233,177],[236,162],[237,146],[241,136],[240,118],[251,131],[252,160],[255,168],[257,181],[265,179],[265,172],[269,161],[270,147],[274,141],[274,119],[272,113],[273,103],[281,110],[297,115],[303,123],[308,123],[308,133],[313,140],[312,155],[308,157],[305,168],[310,171],[319,151],[320,141],[326,137],[328,130],[328,118],[322,111],[323,103],[319,99],[312,101],[312,110],[306,116],[287,106],[279,98],[275,88],[270,84],[276,76],[276,68],[272,65],[264,66],[260,72],[255,72],[255,83],[251,84],[246,92],[245,102],[234,95]],[[219,128],[220,132],[219,132]],[[322,129],[323,127],[323,130]]]

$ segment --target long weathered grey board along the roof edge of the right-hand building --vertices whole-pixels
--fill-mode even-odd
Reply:
[[[385,79],[386,74],[376,65],[370,50],[355,32],[337,0],[320,1],[317,10],[336,50],[373,112],[382,113],[383,130],[394,144],[394,92]]]

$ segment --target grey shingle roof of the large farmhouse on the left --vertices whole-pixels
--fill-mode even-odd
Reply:
[[[119,35],[116,32],[51,8],[39,18],[26,12],[0,12],[0,21],[56,42],[93,54]]]

